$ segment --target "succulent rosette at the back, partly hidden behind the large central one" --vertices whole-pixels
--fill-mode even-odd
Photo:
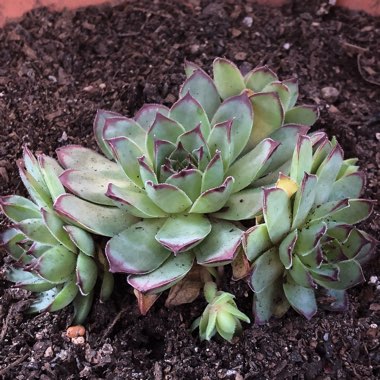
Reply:
[[[207,95],[197,91],[199,83],[211,78],[196,64],[186,62],[188,77],[180,90],[184,96],[190,90],[197,100]],[[311,126],[318,119],[316,106],[296,105],[299,90],[296,78],[279,81],[277,75],[267,66],[260,66],[242,75],[234,63],[225,58],[216,58],[213,63],[215,88],[224,100],[247,92],[253,107],[252,133],[245,151],[252,149],[264,138],[284,124]]]

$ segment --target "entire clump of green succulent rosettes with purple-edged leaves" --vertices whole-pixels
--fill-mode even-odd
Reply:
[[[318,299],[342,310],[376,244],[353,226],[373,208],[360,199],[356,160],[324,133],[307,135],[318,111],[296,106],[295,79],[266,66],[243,76],[222,58],[213,78],[191,62],[185,72],[170,108],[98,111],[102,154],[69,145],[58,163],[25,149],[19,169],[32,200],[0,198],[14,223],[0,235],[14,260],[7,278],[37,293],[33,312],[73,303],[76,323],[98,278],[109,297],[112,273],[128,274],[143,313],[168,288],[174,305],[206,283],[208,306],[193,324],[202,340],[230,341],[249,322],[209,282],[227,264],[248,279],[257,323],[290,306],[311,318]]]

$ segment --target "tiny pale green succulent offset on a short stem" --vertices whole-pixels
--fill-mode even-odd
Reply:
[[[201,340],[210,340],[216,333],[229,342],[241,332],[240,321],[250,323],[249,318],[238,310],[231,293],[217,291],[214,282],[207,282],[204,295],[208,305],[202,316],[197,318],[191,328],[199,328]]]

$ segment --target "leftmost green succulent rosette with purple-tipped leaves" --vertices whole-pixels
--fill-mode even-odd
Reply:
[[[91,234],[66,223],[53,210],[53,202],[65,193],[58,179],[63,172],[59,164],[45,155],[37,159],[24,148],[18,166],[32,200],[17,195],[0,198],[1,210],[14,223],[0,235],[0,244],[14,260],[6,277],[36,293],[30,312],[56,311],[73,303],[75,321],[83,322],[98,276],[101,299],[106,299],[113,275]]]

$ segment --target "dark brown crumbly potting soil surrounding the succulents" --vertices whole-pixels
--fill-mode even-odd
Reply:
[[[131,116],[145,102],[170,105],[185,58],[209,70],[225,56],[244,70],[267,64],[283,79],[298,76],[301,102],[321,110],[314,129],[336,135],[346,157],[359,157],[365,196],[379,199],[379,41],[380,19],[328,1],[270,9],[247,0],[130,0],[59,14],[35,10],[0,29],[0,194],[25,194],[15,164],[23,144],[50,155],[65,144],[95,147],[96,109]],[[379,206],[363,228],[379,237]],[[140,316],[123,276],[111,301],[95,302],[85,343],[74,344],[65,336],[70,309],[25,315],[29,294],[2,280],[0,377],[379,378],[379,268],[378,257],[365,268],[367,281],[349,291],[347,312],[320,310],[307,321],[289,311],[265,326],[245,325],[233,344],[189,333],[202,297],[167,309],[163,295]],[[251,312],[246,284],[227,273],[223,288]]]

